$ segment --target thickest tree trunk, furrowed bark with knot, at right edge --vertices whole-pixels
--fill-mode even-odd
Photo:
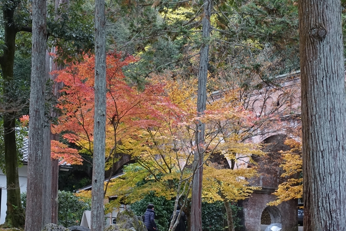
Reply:
[[[300,0],[304,230],[346,230],[346,107],[339,0]]]

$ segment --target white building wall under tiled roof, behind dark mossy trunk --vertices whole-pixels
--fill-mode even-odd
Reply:
[[[22,165],[18,169],[19,173],[19,187],[20,192],[26,192],[26,179],[27,179],[27,165]],[[6,201],[7,201],[7,191],[6,191],[6,175],[0,170],[0,188],[1,188],[1,211],[0,211],[0,224],[5,222],[6,217]]]

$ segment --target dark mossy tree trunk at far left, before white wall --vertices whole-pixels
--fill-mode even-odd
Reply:
[[[12,4],[12,3],[10,3]],[[14,27],[15,7],[3,6],[5,48],[1,57],[1,68],[4,79],[3,92],[6,100],[11,100],[7,86],[13,81],[13,64],[15,52],[16,29]],[[11,26],[12,25],[12,26]],[[10,107],[9,105],[5,107]],[[5,148],[5,171],[7,181],[7,212],[5,222],[14,227],[24,227],[24,210],[20,202],[20,188],[18,176],[18,158],[15,135],[15,113],[5,114],[4,117],[4,148]]]

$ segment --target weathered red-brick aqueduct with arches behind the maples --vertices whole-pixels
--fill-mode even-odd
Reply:
[[[247,99],[248,109],[256,113],[257,117],[276,113],[281,123],[273,121],[269,126],[258,131],[258,135],[247,139],[245,142],[268,144],[266,159],[255,159],[260,166],[258,177],[253,179],[251,185],[261,187],[252,195],[240,201],[243,207],[241,212],[242,228],[239,231],[261,231],[261,216],[264,211],[270,215],[271,223],[281,223],[281,231],[298,231],[298,201],[290,200],[279,206],[267,206],[267,203],[275,200],[272,193],[282,183],[282,169],[278,160],[280,150],[288,150],[283,144],[288,130],[295,130],[300,125],[300,71],[282,74],[276,77],[272,86],[265,86],[252,92]],[[214,99],[220,97],[219,93],[211,95]],[[267,158],[268,157],[268,158]],[[251,167],[247,157],[237,157],[235,168]],[[129,156],[122,157],[114,166],[114,173],[120,173],[122,167],[132,162]],[[228,161],[230,166],[230,162]]]

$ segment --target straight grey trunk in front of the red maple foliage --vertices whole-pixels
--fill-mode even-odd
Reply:
[[[103,186],[106,139],[106,37],[104,0],[95,1],[95,116],[92,183],[92,231],[103,230]]]

